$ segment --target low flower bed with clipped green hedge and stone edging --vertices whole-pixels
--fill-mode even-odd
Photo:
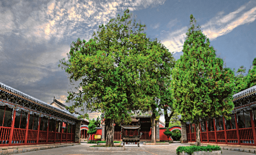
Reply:
[[[177,155],[204,155],[207,152],[207,155],[220,155],[221,148],[215,145],[207,146],[179,146],[176,149]]]

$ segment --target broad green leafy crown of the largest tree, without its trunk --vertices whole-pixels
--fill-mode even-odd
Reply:
[[[173,56],[155,39],[146,38],[145,25],[131,24],[129,10],[99,25],[88,42],[73,42],[68,60],[60,60],[75,85],[69,91],[69,111],[82,107],[104,113],[117,124],[131,121],[129,112],[140,109],[157,113],[160,86],[170,80]]]

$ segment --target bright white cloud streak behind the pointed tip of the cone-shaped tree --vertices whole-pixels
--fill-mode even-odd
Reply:
[[[256,2],[250,1],[227,15],[224,15],[224,12],[218,12],[214,18],[210,19],[206,24],[202,24],[201,30],[209,39],[214,40],[219,36],[226,35],[240,25],[252,23],[255,20]],[[166,26],[171,28],[175,22],[177,22],[176,19],[170,21]],[[161,33],[161,38],[163,38],[161,42],[170,52],[181,52],[187,30],[188,27],[183,27],[174,32]]]

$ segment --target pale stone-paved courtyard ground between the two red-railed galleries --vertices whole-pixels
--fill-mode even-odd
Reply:
[[[22,155],[177,155],[178,146],[188,146],[180,143],[170,145],[146,146],[140,144],[125,146],[124,151],[87,151],[86,148],[92,144],[82,143],[81,145],[67,146],[63,148],[45,149],[39,151],[25,152]],[[222,150],[222,155],[255,155],[230,150]]]

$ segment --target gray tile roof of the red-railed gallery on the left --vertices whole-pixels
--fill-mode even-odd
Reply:
[[[56,110],[56,111],[58,111],[58,112],[60,112],[60,113],[66,113],[67,115],[69,115],[69,116],[71,116],[71,117],[75,117],[75,118],[77,118],[77,117],[79,116],[79,115],[77,115],[77,114],[75,114],[75,113],[70,113],[68,110],[62,110],[62,109],[60,109],[60,108],[54,107],[54,106],[52,106],[52,105],[50,105],[50,104],[48,104],[48,103],[45,103],[45,102],[43,102],[43,101],[41,101],[41,100],[39,100],[39,99],[37,99],[37,98],[35,98],[35,97],[32,97],[32,96],[27,95],[27,94],[25,94],[25,93],[23,93],[23,92],[21,92],[21,91],[19,91],[19,90],[17,90],[17,89],[14,89],[14,88],[12,88],[12,87],[10,87],[10,86],[7,86],[7,85],[4,84],[4,83],[0,83],[0,87],[2,87],[3,89],[9,90],[9,91],[11,91],[11,92],[14,93],[14,94],[21,95],[21,96],[23,96],[23,97],[26,98],[26,99],[35,101],[35,102],[37,102],[39,105],[41,104],[41,105],[43,105],[43,106],[45,106],[45,107],[52,108],[52,109],[54,109],[54,110]]]

